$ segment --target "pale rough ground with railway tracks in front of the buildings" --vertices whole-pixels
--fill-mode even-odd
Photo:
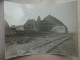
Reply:
[[[76,51],[76,48],[73,36],[74,34],[47,33],[28,37],[29,40],[26,40],[26,35],[10,37],[9,40],[16,39],[17,42],[20,40],[22,43],[15,43],[16,40],[13,40],[14,44],[11,45],[6,43],[5,57],[7,59],[30,54],[68,54],[75,56],[76,52],[74,53],[74,51]]]

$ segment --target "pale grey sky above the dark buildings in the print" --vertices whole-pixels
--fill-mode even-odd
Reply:
[[[77,2],[61,4],[20,4],[4,2],[5,20],[11,25],[23,25],[28,19],[44,19],[48,15],[62,21],[70,32],[77,31]]]

